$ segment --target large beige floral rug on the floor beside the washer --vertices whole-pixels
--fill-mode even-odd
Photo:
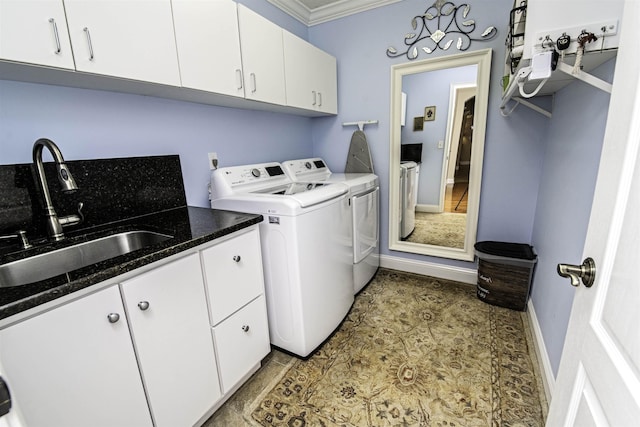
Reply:
[[[261,426],[542,426],[520,312],[381,269],[338,331],[248,405]]]

